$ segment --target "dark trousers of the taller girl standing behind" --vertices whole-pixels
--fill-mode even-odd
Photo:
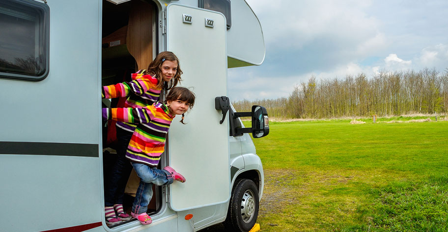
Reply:
[[[128,183],[132,166],[126,159],[126,150],[131,141],[132,132],[125,131],[119,127],[116,128],[117,135],[117,158],[112,166],[112,170],[105,181],[104,205],[113,206],[114,204],[123,204],[124,189]]]

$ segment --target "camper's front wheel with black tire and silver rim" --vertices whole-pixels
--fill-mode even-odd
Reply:
[[[232,189],[227,218],[227,231],[249,232],[258,217],[258,189],[252,180],[242,179]]]

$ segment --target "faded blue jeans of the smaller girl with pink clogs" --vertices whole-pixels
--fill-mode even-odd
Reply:
[[[131,162],[131,164],[140,177],[140,185],[132,205],[132,212],[140,214],[148,211],[148,205],[152,198],[152,185],[170,185],[173,183],[173,178],[171,173],[166,170],[136,162]]]

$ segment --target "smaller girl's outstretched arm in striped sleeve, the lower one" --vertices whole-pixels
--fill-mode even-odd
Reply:
[[[103,119],[130,123],[148,123],[154,118],[153,106],[144,108],[103,108]]]

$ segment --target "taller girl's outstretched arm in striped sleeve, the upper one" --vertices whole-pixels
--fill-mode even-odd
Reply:
[[[136,74],[136,73],[134,73]],[[149,89],[154,89],[157,84],[157,78],[150,75],[138,74],[135,80],[131,82],[123,82],[115,85],[103,86],[101,89],[102,98],[115,98],[115,97],[125,97],[129,93],[134,93],[136,95],[141,95],[148,91]]]

